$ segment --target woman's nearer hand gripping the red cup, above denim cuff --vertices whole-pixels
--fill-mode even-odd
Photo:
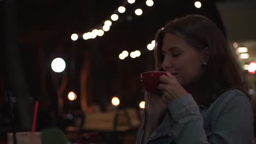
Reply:
[[[166,75],[160,76],[161,83],[158,88],[162,91],[162,101],[168,105],[172,100],[182,97],[188,92],[179,84],[176,77],[167,72]]]

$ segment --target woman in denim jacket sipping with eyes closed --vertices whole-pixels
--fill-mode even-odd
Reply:
[[[156,34],[161,94],[145,93],[136,143],[251,143],[253,111],[246,77],[224,35],[200,15]]]

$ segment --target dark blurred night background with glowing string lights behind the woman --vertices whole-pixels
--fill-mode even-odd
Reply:
[[[154,70],[155,33],[187,14],[208,17],[225,34],[254,98],[254,0],[0,0],[0,142],[13,128],[31,130],[39,100],[36,131],[135,143],[144,106],[139,74]]]

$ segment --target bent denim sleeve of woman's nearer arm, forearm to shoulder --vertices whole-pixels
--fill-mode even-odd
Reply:
[[[251,143],[253,112],[245,95],[237,95],[228,101],[219,113],[208,140],[199,106],[190,94],[171,101],[168,110],[174,119],[173,135],[176,143]]]

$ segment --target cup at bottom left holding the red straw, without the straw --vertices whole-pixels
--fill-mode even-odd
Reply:
[[[13,144],[13,133],[7,133],[8,144]],[[17,144],[41,144],[41,133],[34,132],[17,132],[16,133]]]

